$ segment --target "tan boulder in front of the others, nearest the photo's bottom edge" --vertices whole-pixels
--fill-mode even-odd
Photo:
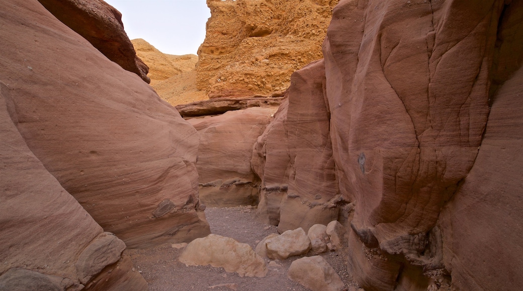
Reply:
[[[321,256],[293,261],[287,276],[312,291],[341,291],[345,287],[336,271]]]

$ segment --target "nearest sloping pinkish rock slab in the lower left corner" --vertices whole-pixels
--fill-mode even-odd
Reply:
[[[25,3],[24,6],[35,7]],[[5,11],[13,17],[18,15],[17,9],[6,8],[0,13],[3,28]],[[126,245],[116,236],[104,233],[29,150],[16,128],[19,119],[12,94],[2,81],[0,289],[81,289],[90,285],[107,265],[120,260]],[[125,273],[131,269],[129,263],[122,266],[123,273],[106,276],[106,286],[121,287],[122,280],[129,283],[128,290],[147,290],[139,273]]]

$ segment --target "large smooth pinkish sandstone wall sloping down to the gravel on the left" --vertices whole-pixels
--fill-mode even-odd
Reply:
[[[36,1],[2,10],[1,81],[29,149],[128,247],[209,234],[198,209],[198,134]]]

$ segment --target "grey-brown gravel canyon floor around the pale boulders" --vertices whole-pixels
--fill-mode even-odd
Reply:
[[[211,233],[232,237],[240,243],[249,244],[253,249],[258,242],[271,233],[277,233],[276,226],[259,223],[256,220],[255,209],[250,207],[207,208],[207,220]],[[183,249],[176,249],[171,244],[164,244],[145,250],[126,250],[135,268],[142,272],[149,283],[151,291],[172,290],[232,290],[238,291],[304,291],[308,290],[300,284],[287,278],[287,270],[295,256],[283,261],[275,261],[280,266],[269,266],[267,276],[240,277],[236,273],[227,273],[223,268],[212,266],[185,266],[178,261]],[[342,278],[346,287],[353,289],[356,284],[350,281],[346,268],[346,250],[325,252],[321,254],[332,265]],[[269,263],[269,259],[266,262]],[[220,284],[234,284],[215,286]],[[215,287],[212,287],[215,286]],[[356,288],[357,290],[357,288]]]

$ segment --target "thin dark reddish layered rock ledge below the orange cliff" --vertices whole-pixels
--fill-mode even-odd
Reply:
[[[281,104],[283,99],[284,97],[279,95],[275,97],[258,95],[246,96],[244,98],[215,98],[178,105],[176,106],[176,110],[178,110],[184,118],[219,115],[228,111],[242,110],[251,107],[275,108]]]

